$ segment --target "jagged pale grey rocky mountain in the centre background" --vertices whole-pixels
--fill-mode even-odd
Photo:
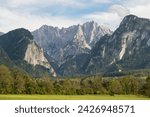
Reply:
[[[108,28],[92,21],[62,29],[44,25],[32,34],[36,43],[61,64],[69,55],[89,53],[91,47],[107,33],[111,33]]]

